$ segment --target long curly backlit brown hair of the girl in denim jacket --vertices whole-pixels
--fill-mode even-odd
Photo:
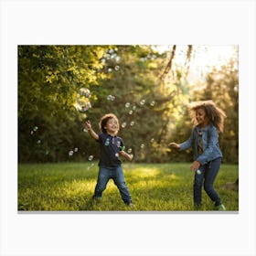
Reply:
[[[206,112],[208,123],[212,123],[219,131],[224,131],[224,120],[227,117],[219,107],[216,106],[214,101],[196,101],[190,104],[189,114],[194,125],[197,125],[196,111],[203,109]]]

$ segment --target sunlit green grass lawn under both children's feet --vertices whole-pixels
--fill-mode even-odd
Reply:
[[[193,209],[194,174],[185,164],[123,164],[134,208],[123,204],[109,181],[101,201],[92,201],[96,163],[18,165],[18,210],[27,211],[190,211]],[[235,181],[238,165],[221,165],[215,188],[227,210],[239,210],[239,193],[224,186]],[[204,211],[213,203],[203,191]]]

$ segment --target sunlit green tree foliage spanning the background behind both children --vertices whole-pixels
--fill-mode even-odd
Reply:
[[[167,62],[151,46],[18,46],[19,162],[99,159],[99,146],[84,132],[90,119],[96,132],[101,116],[119,118],[119,135],[135,162],[192,161],[171,141],[191,133],[189,101],[212,99],[227,113],[220,136],[224,161],[238,163],[238,70],[235,62],[212,69],[200,90],[182,80],[160,80]],[[90,90],[82,99],[81,88]]]

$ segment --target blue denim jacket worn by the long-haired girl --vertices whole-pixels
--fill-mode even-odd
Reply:
[[[202,132],[203,141],[203,153],[201,155],[198,155],[199,130]],[[186,142],[180,144],[179,150],[185,150],[192,146],[194,149],[194,159],[197,160],[201,165],[205,165],[209,161],[222,157],[222,153],[219,148],[218,130],[212,124],[208,124],[208,126],[204,127],[203,129],[200,129],[197,125],[193,129],[189,139]]]

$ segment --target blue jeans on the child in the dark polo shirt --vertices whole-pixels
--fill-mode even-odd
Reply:
[[[131,203],[132,197],[130,196],[128,188],[125,184],[122,165],[119,165],[113,168],[100,166],[97,185],[95,187],[95,192],[93,197],[94,198],[101,197],[102,192],[107,187],[107,184],[111,178],[113,179],[113,182],[116,185],[116,187],[118,187],[121,197],[123,199],[123,202],[125,204]]]

